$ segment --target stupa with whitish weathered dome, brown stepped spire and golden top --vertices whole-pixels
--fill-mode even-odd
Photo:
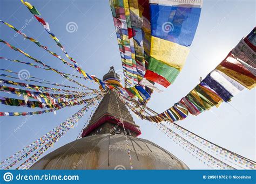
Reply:
[[[113,67],[103,80],[122,86]],[[164,148],[138,138],[140,134],[125,104],[109,90],[83,130],[83,138],[45,155],[30,169],[131,169],[131,164],[133,169],[189,169]]]

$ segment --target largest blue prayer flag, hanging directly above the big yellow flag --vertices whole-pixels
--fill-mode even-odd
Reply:
[[[190,46],[197,30],[201,8],[151,4],[151,34]]]

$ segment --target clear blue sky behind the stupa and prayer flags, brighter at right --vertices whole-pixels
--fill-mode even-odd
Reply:
[[[108,72],[110,66],[116,70],[122,69],[112,14],[107,0],[75,0],[75,1],[29,1],[41,12],[42,17],[50,24],[50,29],[87,73],[102,77]],[[0,2],[0,18],[5,22],[21,29],[32,18],[29,10],[20,2],[2,0]],[[77,24],[77,31],[66,31],[70,22]],[[255,1],[204,1],[196,36],[191,46],[186,64],[176,81],[163,93],[155,93],[151,97],[149,107],[157,112],[163,112],[173,103],[185,96],[196,84],[199,77],[203,78],[218,65],[221,60],[246,36],[255,26]],[[36,38],[40,43],[61,55],[43,27],[34,18],[23,32]],[[37,47],[22,36],[15,36],[15,31],[5,25],[0,25],[1,39],[22,49],[31,56],[57,68],[62,72],[72,73],[72,69],[64,65],[42,48]],[[1,44],[0,56],[10,59],[32,62],[18,52]],[[29,70],[32,76],[53,82],[62,83],[64,79],[53,72],[24,66],[20,63],[0,61],[0,69],[11,69],[19,72],[21,69]],[[6,74],[6,73],[5,73]],[[81,81],[84,82],[84,81]],[[72,85],[70,82],[66,82]],[[95,87],[89,82],[84,84]],[[8,96],[1,93],[1,96]],[[27,111],[26,108],[15,108],[0,105],[1,111]],[[32,116],[21,129],[15,131],[22,124],[25,117],[0,118],[0,160],[21,150],[24,146],[52,130],[66,118],[70,117],[81,106],[65,108],[53,113]],[[36,110],[36,109],[32,109]],[[184,128],[197,133],[215,144],[228,150],[255,160],[255,89],[244,90],[232,99],[229,104],[222,104],[219,108],[204,112],[194,117],[190,116],[178,122]],[[80,121],[75,129],[71,129],[63,136],[49,152],[75,140],[84,126],[89,113]],[[182,148],[167,138],[153,124],[142,121],[132,115],[134,121],[140,125],[142,135],[164,147],[183,160],[191,169],[205,169],[206,165],[185,152]],[[128,159],[128,158],[127,158]]]

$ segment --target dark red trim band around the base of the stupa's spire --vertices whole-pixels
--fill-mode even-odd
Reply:
[[[122,123],[119,119],[117,119],[113,116],[110,116],[110,115],[105,115],[102,118],[100,118],[96,123],[93,123],[92,125],[85,128],[82,133],[82,137],[89,135],[89,133],[91,133],[93,130],[97,129],[100,125],[104,124],[106,121],[109,123],[112,123],[112,124],[120,123],[120,126],[122,126]],[[129,129],[130,131],[135,132],[137,136],[142,134],[142,132],[140,132],[140,130],[137,126],[134,126],[129,122],[125,122],[125,121],[123,121],[123,122],[124,122],[125,129]]]

